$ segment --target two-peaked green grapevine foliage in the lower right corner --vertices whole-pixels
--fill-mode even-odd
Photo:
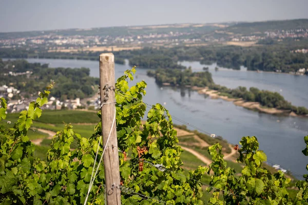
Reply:
[[[308,137],[305,137],[308,139]],[[306,142],[307,143],[307,142]],[[213,197],[209,204],[306,204],[307,181],[298,181],[300,189],[295,198],[288,196],[286,190],[291,179],[284,176],[281,171],[271,174],[262,168],[266,155],[258,150],[259,142],[256,137],[243,137],[240,141],[242,147],[238,150],[240,156],[237,161],[244,163],[241,176],[236,177],[234,169],[226,167],[219,144],[209,147],[208,152],[213,157],[209,171],[213,171],[210,188]],[[217,196],[222,192],[223,200]],[[216,196],[217,195],[217,196]],[[223,202],[224,201],[224,202]]]

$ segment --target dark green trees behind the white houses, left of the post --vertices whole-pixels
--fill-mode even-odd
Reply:
[[[7,66],[6,66],[7,65]],[[55,81],[53,96],[65,99],[85,98],[93,95],[99,78],[90,77],[88,68],[48,68],[47,64],[28,63],[26,60],[0,60],[3,73],[32,71],[28,75],[0,75],[0,85],[12,85],[26,96],[42,90]]]

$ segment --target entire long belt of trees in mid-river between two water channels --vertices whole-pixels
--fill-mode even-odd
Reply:
[[[210,89],[217,90],[221,93],[221,95],[225,95],[230,98],[243,98],[246,101],[258,102],[264,107],[290,110],[298,115],[308,114],[308,109],[305,107],[293,106],[278,92],[259,90],[254,87],[247,90],[245,87],[241,86],[235,89],[229,89],[225,86],[217,85],[214,83],[211,73],[207,71],[192,72],[190,67],[184,70],[157,69],[155,71],[148,71],[147,75],[155,77],[158,85],[168,83],[171,86],[208,86]]]

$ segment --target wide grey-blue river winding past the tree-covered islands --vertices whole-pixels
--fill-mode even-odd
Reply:
[[[49,63],[49,67],[86,67],[90,68],[91,76],[99,77],[98,61],[34,58],[27,60],[31,63]],[[181,64],[191,66],[194,71],[202,70],[204,67],[198,62]],[[232,71],[223,68],[216,72],[215,64],[208,67],[217,84],[229,88],[245,86],[278,91],[292,104],[308,107],[307,76]],[[115,76],[118,78],[127,69],[130,69],[130,66],[115,65]],[[136,72],[136,80],[144,79],[147,83],[147,94],[144,97],[146,103],[165,105],[172,116],[207,132],[221,135],[234,144],[238,144],[243,136],[256,136],[260,150],[264,150],[267,159],[286,169],[307,174],[305,167],[308,157],[305,157],[301,150],[305,148],[303,137],[308,135],[308,118],[258,113],[222,99],[211,99],[188,89],[161,88],[156,85],[154,78],[146,75],[147,70],[139,68]],[[174,123],[181,124],[176,120]]]

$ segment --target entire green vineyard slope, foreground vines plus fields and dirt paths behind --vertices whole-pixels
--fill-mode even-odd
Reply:
[[[98,166],[100,111],[44,111],[52,85],[19,114],[7,115],[1,98],[0,203],[83,204],[89,193],[86,204],[104,204],[119,189],[123,204],[308,204],[308,175],[296,181],[266,166],[254,136],[230,146],[175,127],[162,105],[143,103],[144,81],[128,86],[134,72],[115,85],[121,182],[113,187]]]

